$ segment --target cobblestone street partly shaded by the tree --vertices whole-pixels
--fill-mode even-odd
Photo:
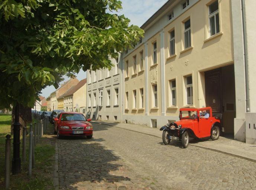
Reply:
[[[91,140],[58,141],[60,189],[256,189],[256,163],[93,124]]]

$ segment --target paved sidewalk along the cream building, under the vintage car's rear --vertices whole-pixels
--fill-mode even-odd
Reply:
[[[123,124],[119,122],[108,122],[108,121],[91,121],[91,122],[118,127],[124,130],[135,131],[142,134],[147,134],[154,137],[162,138],[162,131],[160,131],[159,128],[150,128],[150,127],[145,127],[141,125]],[[220,137],[217,141],[195,140],[195,141],[192,141],[189,145],[212,150],[212,151],[217,151],[219,153],[223,153],[223,154],[227,154],[234,157],[256,162],[256,145],[253,145],[253,144],[246,144],[244,142],[231,140],[225,137]]]

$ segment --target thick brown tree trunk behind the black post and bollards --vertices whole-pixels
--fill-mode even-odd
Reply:
[[[15,107],[12,109],[12,125],[11,125],[11,134],[13,134],[13,123],[14,123],[14,116],[15,116]],[[20,122],[20,136],[23,133],[23,127],[27,126],[30,122],[32,122],[32,112],[31,108],[23,107],[19,104],[19,122]]]

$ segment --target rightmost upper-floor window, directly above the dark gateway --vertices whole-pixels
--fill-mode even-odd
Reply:
[[[209,6],[210,36],[220,32],[218,1]]]

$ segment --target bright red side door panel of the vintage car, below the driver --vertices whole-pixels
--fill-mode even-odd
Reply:
[[[198,122],[198,137],[199,138],[210,137],[212,122],[213,122],[212,117],[209,117],[207,119],[199,118],[199,122]]]

